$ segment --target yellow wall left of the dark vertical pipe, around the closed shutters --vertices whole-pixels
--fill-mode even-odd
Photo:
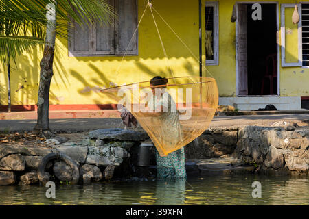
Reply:
[[[139,0],[139,17],[144,11],[144,0]],[[198,0],[154,1],[157,11],[165,18],[198,57]],[[185,12],[185,14],[184,14]],[[165,49],[170,57],[174,76],[199,75],[198,62],[194,60],[176,36],[157,18]],[[67,40],[57,38],[54,77],[50,92],[51,104],[108,104],[115,101],[98,92],[98,87],[149,80],[156,75],[168,75],[161,44],[150,11],[146,12],[139,28],[139,55],[128,56],[122,63],[119,75],[116,71],[122,60],[117,56],[69,57]],[[39,79],[40,49],[21,55],[12,70],[12,105],[36,104]],[[29,58],[29,60],[28,60]],[[13,64],[13,63],[12,63]],[[13,64],[14,65],[14,64]],[[0,73],[0,104],[7,104],[6,73]],[[26,79],[27,82],[23,80]],[[23,89],[19,89],[23,86]]]

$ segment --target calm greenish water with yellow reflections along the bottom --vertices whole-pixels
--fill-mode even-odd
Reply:
[[[262,198],[251,196],[254,181],[262,184]],[[209,176],[188,183],[56,185],[54,199],[43,186],[0,186],[0,205],[309,205],[309,177]]]

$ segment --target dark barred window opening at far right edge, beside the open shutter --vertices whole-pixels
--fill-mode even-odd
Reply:
[[[303,66],[309,66],[309,4],[301,5]]]

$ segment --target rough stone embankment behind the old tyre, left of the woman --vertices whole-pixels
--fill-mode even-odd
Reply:
[[[113,177],[115,166],[120,166],[130,157],[130,147],[147,138],[144,133],[135,131],[101,129],[89,133],[88,146],[0,145],[0,185],[38,183],[38,166],[49,153],[64,153],[71,157],[78,164],[81,182],[109,180]],[[50,162],[45,169],[52,172],[51,180],[67,182],[73,177],[71,168],[60,160]]]

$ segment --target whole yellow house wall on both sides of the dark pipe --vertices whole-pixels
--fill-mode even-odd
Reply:
[[[207,66],[218,82],[220,96],[236,96],[236,23],[230,21],[235,2],[219,1],[219,66]],[[295,1],[280,0],[279,3],[295,3]],[[156,0],[154,6],[198,57],[198,0]],[[143,11],[144,0],[139,0],[139,17]],[[205,10],[203,18],[204,15]],[[198,62],[158,17],[157,22],[174,76],[198,76]],[[205,27],[205,19],[202,27]],[[202,31],[203,35],[204,32]],[[204,47],[203,54],[205,54]],[[12,62],[12,105],[36,104],[39,62],[42,55],[42,50],[37,48],[21,55],[16,61],[16,66]],[[149,11],[146,12],[139,28],[139,55],[126,57],[119,75],[116,76],[121,60],[122,57],[117,56],[69,57],[67,40],[57,38],[50,104],[115,103],[113,99],[108,99],[106,94],[98,92],[98,88],[108,86],[110,81],[120,85],[149,80],[155,75],[171,77],[172,75],[168,75],[161,44]],[[203,62],[205,63],[205,56]],[[280,67],[281,96],[309,96],[308,84],[309,69]],[[8,103],[6,90],[6,72],[1,66],[1,105]]]

